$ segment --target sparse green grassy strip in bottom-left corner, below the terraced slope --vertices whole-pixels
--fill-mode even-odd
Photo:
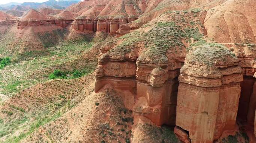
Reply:
[[[45,110],[40,110],[39,112],[34,111],[32,113],[24,112],[22,114],[15,114],[15,120],[6,119],[4,124],[0,124],[0,137],[8,135],[3,143],[21,142],[21,140],[30,136],[34,131],[37,131],[39,127],[55,121],[63,115],[68,111],[66,110],[67,108],[70,109],[69,106],[71,106],[71,108],[74,106],[73,103],[71,104],[70,100],[62,101],[63,102],[60,102],[59,105],[56,105],[57,107],[49,106]],[[57,102],[54,102],[53,104],[55,103]],[[12,107],[17,108],[14,106]],[[18,135],[17,131],[19,132]],[[49,131],[49,133],[51,134],[51,131]]]

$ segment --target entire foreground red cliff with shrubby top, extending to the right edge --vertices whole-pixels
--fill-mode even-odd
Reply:
[[[239,126],[250,129],[246,132],[254,142],[255,45],[212,42],[205,28],[209,14],[199,9],[165,12],[136,24],[142,16],[122,25],[117,39],[101,47],[95,92],[107,85],[124,92],[134,131],[136,121],[150,120],[176,125],[174,133],[182,142],[213,143]]]

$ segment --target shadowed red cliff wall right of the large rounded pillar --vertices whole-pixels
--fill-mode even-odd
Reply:
[[[237,122],[246,130],[250,140],[256,142],[253,134],[255,122],[255,44],[224,44],[233,51],[239,59],[243,70],[244,81],[241,82],[241,98],[239,101]]]

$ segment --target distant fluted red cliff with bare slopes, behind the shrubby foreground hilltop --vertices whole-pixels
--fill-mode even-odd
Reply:
[[[73,7],[73,10],[71,10]],[[128,1],[83,1],[77,4],[77,10],[71,6],[67,10],[76,12],[80,16],[73,22],[73,28],[76,31],[105,31],[115,34],[122,24],[137,19],[136,15],[141,15],[140,9],[134,9],[134,6]]]

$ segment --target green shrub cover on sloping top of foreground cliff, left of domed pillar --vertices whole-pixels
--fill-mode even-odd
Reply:
[[[164,16],[179,16],[176,13],[177,12],[165,13]],[[180,13],[180,15],[183,14],[184,13]],[[204,35],[200,33],[198,28],[201,23],[193,22],[193,25],[188,25],[188,23],[189,22],[185,19],[181,21],[178,20],[178,18],[171,22],[149,23],[149,25],[154,26],[146,32],[134,31],[118,38],[117,41],[123,39],[123,42],[109,50],[106,56],[118,55],[118,57],[125,58],[125,54],[130,53],[136,48],[136,45],[143,44],[146,50],[138,57],[137,62],[143,63],[146,61],[152,64],[166,64],[168,62],[166,56],[167,50],[177,53],[178,50],[182,52],[182,50],[185,49],[185,45],[182,42],[183,39],[188,42],[190,42],[191,39],[195,42],[205,41]],[[188,26],[183,26],[186,24]],[[109,42],[109,44],[112,43]]]

